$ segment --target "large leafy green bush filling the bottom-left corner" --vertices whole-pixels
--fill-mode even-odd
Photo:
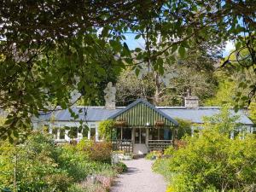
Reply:
[[[2,143],[0,148],[0,189],[64,191],[73,181],[66,170],[58,167],[59,151],[51,137],[45,137],[40,132],[32,133],[26,143],[19,146]]]

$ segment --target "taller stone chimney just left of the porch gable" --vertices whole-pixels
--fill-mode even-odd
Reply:
[[[116,89],[113,86],[112,82],[108,82],[106,89],[104,90],[105,93],[105,107],[108,109],[115,109],[115,93]]]

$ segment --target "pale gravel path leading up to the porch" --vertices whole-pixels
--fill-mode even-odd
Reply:
[[[125,160],[128,172],[119,175],[111,192],[165,192],[164,178],[152,172],[152,160]]]

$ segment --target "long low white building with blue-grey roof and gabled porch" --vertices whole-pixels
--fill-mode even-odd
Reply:
[[[113,119],[117,122],[116,136],[113,146],[128,152],[146,154],[154,148],[165,148],[172,144],[173,130],[177,120],[189,120],[193,124],[203,124],[203,117],[210,117],[220,112],[219,107],[199,107],[196,96],[187,96],[184,107],[154,107],[149,102],[138,99],[127,107],[115,107],[114,103],[106,103],[104,107],[74,107],[73,112],[79,115],[73,119],[71,113],[57,108],[52,113],[42,113],[33,119],[34,127],[46,125],[49,132],[55,129],[56,142],[68,142],[68,130],[63,127],[79,127],[80,121],[89,127],[85,137],[99,140],[98,126],[102,120]],[[253,122],[244,111],[230,110],[231,114],[239,115],[238,123],[248,132],[253,132]],[[171,128],[171,129],[170,129]],[[82,133],[78,133],[78,139]]]

